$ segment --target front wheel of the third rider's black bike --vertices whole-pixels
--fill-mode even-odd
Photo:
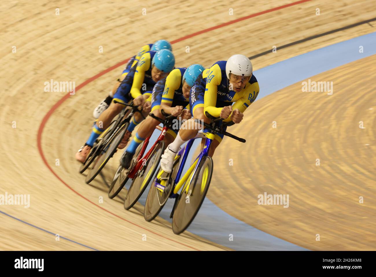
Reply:
[[[121,125],[116,131],[115,134],[111,137],[109,142],[103,146],[100,153],[97,157],[94,158],[93,165],[88,175],[86,176],[85,182],[89,184],[94,178],[99,174],[100,170],[105,167],[108,160],[115,154],[118,145],[124,137],[125,132],[129,126],[129,122]]]

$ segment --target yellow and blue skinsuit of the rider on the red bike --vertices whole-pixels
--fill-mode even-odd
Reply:
[[[152,111],[158,110],[161,104],[168,104],[171,107],[189,106],[189,98],[183,95],[183,75],[186,67],[178,67],[170,72],[170,74],[158,81],[153,88],[152,93]],[[176,137],[179,129],[168,129],[168,133]]]

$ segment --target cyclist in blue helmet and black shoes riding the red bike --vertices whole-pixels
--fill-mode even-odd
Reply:
[[[205,70],[205,67],[199,64],[191,65],[188,68],[178,67],[172,70],[167,78],[158,81],[152,93],[152,113],[159,118],[164,118],[161,113],[161,110],[163,110],[173,116],[180,115],[181,119],[190,119],[190,90],[197,77],[202,75],[203,70]],[[184,107],[187,107],[187,109],[184,109]],[[129,167],[138,145],[153,133],[158,124],[159,121],[150,116],[140,124],[132,142],[121,157],[120,163],[124,168]],[[172,129],[168,129],[164,139],[166,145],[173,142],[178,131],[179,126],[176,124]]]

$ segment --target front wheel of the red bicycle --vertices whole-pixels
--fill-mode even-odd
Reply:
[[[165,143],[162,141],[154,148],[150,154],[149,159],[144,161],[143,166],[138,170],[137,175],[133,179],[129,187],[128,193],[124,201],[124,209],[129,210],[136,204],[137,200],[144,193],[147,185],[152,180],[155,170],[158,167],[159,160],[161,160],[162,153],[165,148]]]

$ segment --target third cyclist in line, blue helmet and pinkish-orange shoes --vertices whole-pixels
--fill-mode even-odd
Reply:
[[[133,105],[143,106],[144,110],[149,114],[153,87],[156,82],[167,77],[168,73],[174,68],[174,65],[175,58],[170,50],[162,49],[158,52],[148,51],[144,53],[137,62],[137,65],[130,69],[127,76],[117,88],[114,100],[120,103],[128,103],[133,100]],[[111,102],[108,109],[99,116],[89,139],[76,153],[76,160],[82,163],[85,161],[96,139],[110,125],[114,117],[123,110],[124,105],[120,103]],[[142,119],[141,114],[135,113],[118,148],[123,149],[127,145],[130,134],[135,126],[141,123]]]

